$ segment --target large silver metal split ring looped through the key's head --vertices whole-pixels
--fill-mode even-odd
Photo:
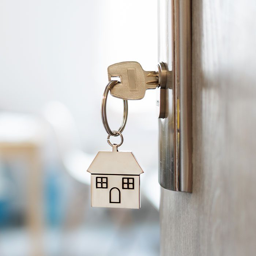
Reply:
[[[115,130],[112,131],[109,128],[109,124],[108,124],[108,120],[107,120],[107,114],[106,114],[107,97],[108,97],[108,93],[109,93],[109,90],[111,89],[111,87],[116,85],[117,83],[118,83],[118,81],[112,80],[112,81],[110,81],[107,84],[107,86],[105,88],[105,91],[103,93],[102,102],[101,102],[101,118],[102,118],[102,123],[104,125],[104,128],[105,128],[106,132],[109,134],[109,136],[115,136],[115,137],[120,135],[121,132],[124,131],[124,127],[126,125],[127,117],[128,117],[128,101],[126,99],[123,99],[124,112],[123,112],[123,119],[122,119],[122,122],[120,124],[120,127],[118,128],[118,131],[115,131]],[[122,136],[121,136],[121,139],[122,139]],[[109,140],[108,140],[108,142],[109,142]]]

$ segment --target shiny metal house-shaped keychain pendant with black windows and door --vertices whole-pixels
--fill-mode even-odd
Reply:
[[[142,168],[132,152],[99,151],[87,172],[91,173],[91,206],[140,208]]]

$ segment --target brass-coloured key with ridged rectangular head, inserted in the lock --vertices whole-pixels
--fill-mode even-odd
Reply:
[[[147,89],[159,87],[158,72],[144,71],[136,61],[119,62],[108,67],[108,79],[120,83],[110,89],[110,94],[121,99],[142,99]]]

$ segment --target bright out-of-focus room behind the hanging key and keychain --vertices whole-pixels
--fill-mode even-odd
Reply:
[[[1,0],[0,17],[0,255],[158,255],[154,90],[129,101],[120,147],[144,169],[141,209],[91,208],[86,172],[111,150],[107,67],[155,70],[157,1]],[[122,100],[107,112],[117,129]]]

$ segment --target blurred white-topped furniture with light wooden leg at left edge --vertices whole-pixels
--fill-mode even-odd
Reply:
[[[26,159],[27,210],[33,248],[31,255],[42,255],[42,164],[40,148],[44,140],[44,125],[31,114],[0,112],[0,155],[4,161]],[[23,175],[22,175],[23,176]]]

